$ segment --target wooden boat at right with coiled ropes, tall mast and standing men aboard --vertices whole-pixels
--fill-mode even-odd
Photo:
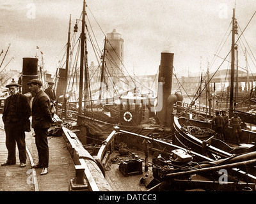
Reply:
[[[234,111],[234,51],[235,51],[235,43],[234,43],[234,35],[236,33],[236,19],[233,13],[233,29],[232,29],[232,76],[231,84],[230,84],[230,103],[229,103],[229,115],[233,116]],[[189,109],[193,107],[193,110]],[[211,157],[212,159],[223,159],[230,158],[232,154],[244,154],[246,152],[254,152],[255,151],[255,142],[256,135],[253,131],[246,130],[246,126],[241,133],[242,141],[237,145],[237,138],[232,130],[232,127],[228,127],[227,131],[225,131],[225,142],[215,137],[215,132],[212,130],[212,115],[207,115],[208,113],[214,113],[213,108],[211,111],[208,107],[200,107],[195,106],[193,103],[184,108],[180,105],[176,105],[177,108],[177,117],[174,119],[174,127],[177,131],[175,134],[175,141],[178,145],[186,148],[191,148],[192,150],[205,155],[207,157]],[[211,108],[211,107],[210,107]],[[237,111],[237,110],[236,110]],[[189,112],[195,113],[198,115],[204,115],[201,118],[189,118]],[[244,113],[244,112],[239,112]],[[248,122],[248,117],[244,119],[244,122]]]

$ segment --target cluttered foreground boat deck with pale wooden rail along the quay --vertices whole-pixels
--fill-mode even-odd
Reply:
[[[70,189],[76,191],[76,186],[82,186],[85,191],[255,191],[256,177],[248,173],[253,172],[255,152],[216,160],[152,136],[113,129],[99,151],[91,155],[71,130],[63,128],[64,137],[72,144],[69,149],[76,165],[85,166],[88,182],[87,186],[71,183]],[[120,145],[116,151],[118,143],[127,146]],[[225,172],[220,171],[223,169]]]

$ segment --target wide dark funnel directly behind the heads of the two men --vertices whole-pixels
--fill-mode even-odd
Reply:
[[[22,64],[22,94],[29,92],[27,83],[34,78],[38,78],[38,59],[24,57]]]

